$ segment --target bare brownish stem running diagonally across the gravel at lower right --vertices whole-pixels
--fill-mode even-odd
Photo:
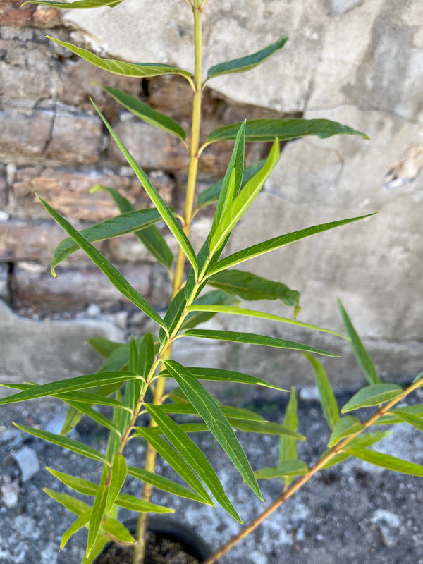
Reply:
[[[403,393],[401,393],[400,396],[393,398],[393,400],[386,403],[386,405],[379,407],[374,415],[369,417],[369,419],[364,422],[364,429],[371,427],[377,421],[377,419],[379,419],[383,415],[386,415],[386,413],[388,413],[394,405],[403,400],[406,396],[408,396],[408,394],[412,393],[412,391],[415,391],[416,388],[419,388],[419,386],[422,386],[421,381],[417,381],[414,384],[411,384],[411,386],[408,386],[408,388]],[[238,544],[239,541],[243,540],[250,533],[252,533],[264,520],[267,519],[267,517],[274,513],[276,509],[281,507],[281,505],[283,505],[283,503],[285,503],[287,499],[293,496],[296,491],[302,488],[302,486],[304,486],[309,481],[309,479],[314,476],[314,474],[316,474],[317,472],[319,472],[319,470],[326,466],[326,464],[328,464],[336,455],[342,453],[343,450],[345,450],[345,447],[348,446],[348,443],[355,439],[356,436],[362,434],[364,429],[358,431],[358,433],[345,437],[345,439],[340,441],[337,445],[333,446],[326,453],[326,455],[320,458],[320,460],[309,470],[309,472],[307,472],[307,474],[300,477],[296,482],[293,482],[293,484],[288,488],[284,489],[282,494],[273,503],[271,503],[268,508],[257,515],[255,519],[250,521],[250,523],[248,523],[248,525],[246,525],[238,534],[235,534],[231,539],[229,539],[226,544],[223,544],[214,554],[212,554],[212,556],[209,556],[209,558],[204,560],[202,564],[214,564],[216,560],[218,560],[218,558],[231,550],[231,548],[233,548],[235,544]]]

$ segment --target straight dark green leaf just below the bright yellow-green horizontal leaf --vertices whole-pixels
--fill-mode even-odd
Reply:
[[[190,329],[185,331],[182,336],[199,337],[203,339],[216,339],[217,341],[233,341],[233,343],[246,343],[247,345],[262,345],[264,347],[286,348],[290,350],[302,350],[305,353],[315,353],[328,357],[339,358],[339,355],[333,355],[326,350],[314,348],[309,345],[295,343],[287,339],[277,337],[268,337],[265,335],[256,335],[255,333],[240,333],[237,331],[216,331],[213,329]]]

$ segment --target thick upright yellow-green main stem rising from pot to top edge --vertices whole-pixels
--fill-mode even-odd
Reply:
[[[191,123],[191,141],[190,141],[190,161],[188,166],[188,180],[185,190],[185,207],[183,215],[183,231],[185,235],[189,235],[192,212],[194,209],[194,196],[195,185],[197,183],[197,170],[199,155],[199,142],[200,142],[200,118],[201,118],[201,103],[202,103],[202,28],[201,28],[201,8],[200,0],[194,0],[192,12],[194,14],[194,38],[195,38],[195,71],[194,71],[194,88],[192,99],[192,123]],[[183,273],[185,268],[185,254],[179,247],[178,257],[176,259],[175,276],[173,278],[172,298],[180,290],[183,283]],[[169,342],[162,360],[170,357],[172,350],[172,343]],[[165,378],[159,378],[154,391],[154,404],[160,404],[164,396],[164,387],[166,384]],[[152,421],[152,425],[155,423]],[[147,453],[145,458],[145,470],[154,472],[156,465],[156,450],[147,444]],[[153,493],[153,486],[145,484],[142,499],[150,501]],[[147,537],[148,513],[140,513],[137,523],[137,542],[135,543],[133,564],[144,564],[145,561],[145,546]]]

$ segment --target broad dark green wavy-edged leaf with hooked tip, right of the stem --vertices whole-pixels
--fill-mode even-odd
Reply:
[[[251,272],[235,269],[222,271],[209,278],[207,284],[227,294],[238,295],[243,300],[281,300],[286,305],[300,307],[300,292]]]

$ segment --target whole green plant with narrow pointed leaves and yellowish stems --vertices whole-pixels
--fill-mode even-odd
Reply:
[[[66,8],[113,7],[121,1],[123,0],[80,0],[65,6]],[[130,97],[120,90],[104,86],[104,90],[118,104],[121,104],[125,109],[128,109],[142,120],[147,121],[147,123],[176,136],[187,149],[189,155],[188,183],[185,192],[183,215],[176,214],[161,199],[148,176],[137,165],[128,149],[123,145],[94,102],[94,107],[97,109],[104,125],[133,168],[154,207],[152,209],[133,209],[130,202],[116,192],[116,190],[96,186],[93,188],[94,191],[107,190],[109,192],[118,207],[119,214],[112,219],[103,221],[78,233],[66,219],[61,217],[47,202],[40,199],[45,209],[70,237],[63,240],[54,251],[51,261],[52,274],[54,274],[54,269],[60,262],[76,250],[82,249],[125,298],[128,298],[130,302],[157,324],[157,335],[146,333],[142,338],[132,338],[129,345],[112,343],[99,338],[92,339],[91,344],[106,358],[104,366],[97,374],[76,376],[75,378],[40,386],[36,384],[9,384],[9,387],[18,389],[18,393],[0,400],[1,404],[44,396],[63,400],[69,407],[66,422],[60,435],[54,435],[47,431],[30,427],[20,426],[20,429],[51,441],[63,448],[69,448],[75,453],[97,460],[102,465],[102,477],[99,484],[63,474],[56,470],[50,470],[51,474],[70,486],[74,491],[87,494],[93,498],[92,505],[88,505],[73,496],[59,494],[51,490],[47,491],[49,495],[56,498],[57,501],[65,505],[66,508],[78,517],[70,529],[63,534],[61,546],[64,546],[66,541],[78,529],[87,527],[88,537],[85,563],[92,562],[99,551],[102,550],[104,544],[113,539],[123,544],[133,544],[134,563],[142,564],[144,561],[145,534],[149,512],[167,513],[171,511],[171,509],[151,503],[150,499],[154,487],[200,503],[213,504],[212,498],[204,488],[205,485],[214,496],[216,503],[219,503],[235,520],[241,522],[226,492],[223,491],[214,469],[200,448],[190,439],[189,434],[193,432],[211,432],[237,468],[240,476],[259,498],[261,498],[261,493],[257,479],[281,477],[284,483],[281,497],[265,510],[261,516],[245,527],[242,534],[235,537],[212,558],[209,558],[207,560],[208,564],[214,562],[224,551],[233,546],[236,541],[254,529],[259,522],[262,522],[271,511],[295,493],[318,470],[343,460],[349,455],[355,455],[375,464],[391,467],[394,470],[422,475],[422,469],[417,465],[391,460],[387,455],[379,455],[369,450],[367,447],[380,440],[381,434],[359,436],[370,425],[380,421],[386,422],[387,418],[388,422],[406,421],[421,428],[422,410],[393,410],[394,405],[417,388],[420,383],[416,381],[405,391],[399,386],[382,383],[367,353],[362,348],[360,339],[357,337],[342,306],[341,313],[345,330],[348,338],[351,340],[353,350],[364,369],[364,374],[366,374],[369,380],[369,386],[363,388],[359,393],[361,394],[360,396],[357,394],[358,397],[353,398],[345,405],[343,411],[346,412],[357,407],[384,404],[382,407],[379,407],[376,414],[372,415],[364,423],[349,415],[339,417],[338,407],[333,398],[329,381],[324,374],[324,369],[310,353],[329,356],[336,355],[309,345],[261,334],[195,329],[198,324],[209,320],[215,314],[235,314],[279,321],[285,324],[301,326],[305,329],[338,334],[327,329],[302,323],[296,319],[300,311],[300,295],[297,291],[290,290],[281,282],[269,281],[255,274],[240,271],[235,267],[247,260],[263,255],[265,252],[277,250],[310,235],[328,231],[338,226],[344,226],[363,217],[368,217],[368,215],[323,223],[295,231],[294,233],[276,235],[273,238],[269,238],[269,240],[259,242],[224,258],[221,258],[221,255],[226,248],[233,229],[254,202],[272,169],[276,166],[279,158],[280,142],[306,135],[317,135],[320,138],[330,137],[331,135],[360,135],[364,139],[367,136],[340,123],[324,119],[255,120],[244,121],[243,123],[215,130],[209,134],[207,141],[200,146],[202,92],[207,82],[221,74],[243,72],[254,68],[280,50],[288,38],[282,36],[274,44],[255,54],[213,66],[209,68],[207,78],[203,80],[201,18],[207,0],[184,1],[192,9],[194,16],[195,71],[193,75],[190,71],[162,63],[135,64],[100,59],[85,49],[50,38],[81,56],[82,59],[111,73],[137,78],[161,74],[179,75],[185,78],[192,88],[192,123],[190,135],[187,135],[180,124],[173,121],[173,119],[159,114],[143,102],[140,102],[140,100]],[[31,3],[63,7],[61,2],[55,1],[33,1]],[[212,143],[221,140],[231,140],[234,142],[233,154],[226,174],[221,181],[204,190],[200,195],[196,195],[197,166],[202,152]],[[265,161],[260,161],[245,168],[245,142],[252,141],[271,142],[271,149]],[[190,243],[192,218],[202,207],[215,202],[217,203],[212,228],[200,252],[196,254]],[[173,257],[160,231],[155,226],[155,223],[158,221],[166,223],[167,228],[178,243],[176,259]],[[114,238],[127,233],[135,233],[153,257],[168,271],[173,291],[171,303],[163,318],[92,245],[92,243],[98,240]],[[185,275],[185,266],[187,265],[189,271]],[[214,289],[208,290],[207,286]],[[266,312],[240,307],[239,299],[281,300],[288,307],[293,307],[293,318],[278,317]],[[339,336],[342,337],[341,335]],[[185,337],[250,343],[298,350],[305,353],[314,368],[324,415],[332,430],[329,450],[324,453],[319,462],[309,469],[304,462],[298,460],[296,441],[302,440],[304,437],[297,432],[294,391],[291,393],[290,403],[283,424],[266,422],[262,417],[250,410],[243,410],[236,406],[223,406],[200,384],[200,380],[225,381],[230,384],[256,384],[269,386],[276,390],[281,388],[266,384],[265,381],[257,376],[249,374],[207,367],[183,367],[178,362],[171,360],[171,350],[173,341]],[[178,388],[171,393],[165,391],[165,383],[168,378],[174,379],[178,385]],[[147,400],[147,398],[149,399]],[[94,410],[92,408],[94,405],[111,407],[113,410],[111,419]],[[149,427],[142,427],[139,424],[138,418],[143,414],[147,414],[150,417]],[[192,422],[178,424],[170,417],[170,415],[175,414],[190,415],[193,417],[193,420]],[[91,417],[102,427],[109,429],[109,441],[105,454],[66,437],[66,434],[75,427],[82,415]],[[271,469],[266,468],[253,472],[233,429],[278,434],[281,437],[279,464]],[[147,443],[145,467],[143,469],[127,467],[125,462],[124,450],[127,448],[128,443],[136,439],[144,439]],[[181,486],[155,472],[157,454],[161,455],[173,467],[189,487]],[[141,499],[121,493],[123,483],[128,474],[144,482],[144,491]],[[140,513],[135,539],[118,522],[119,507],[130,508]]]

